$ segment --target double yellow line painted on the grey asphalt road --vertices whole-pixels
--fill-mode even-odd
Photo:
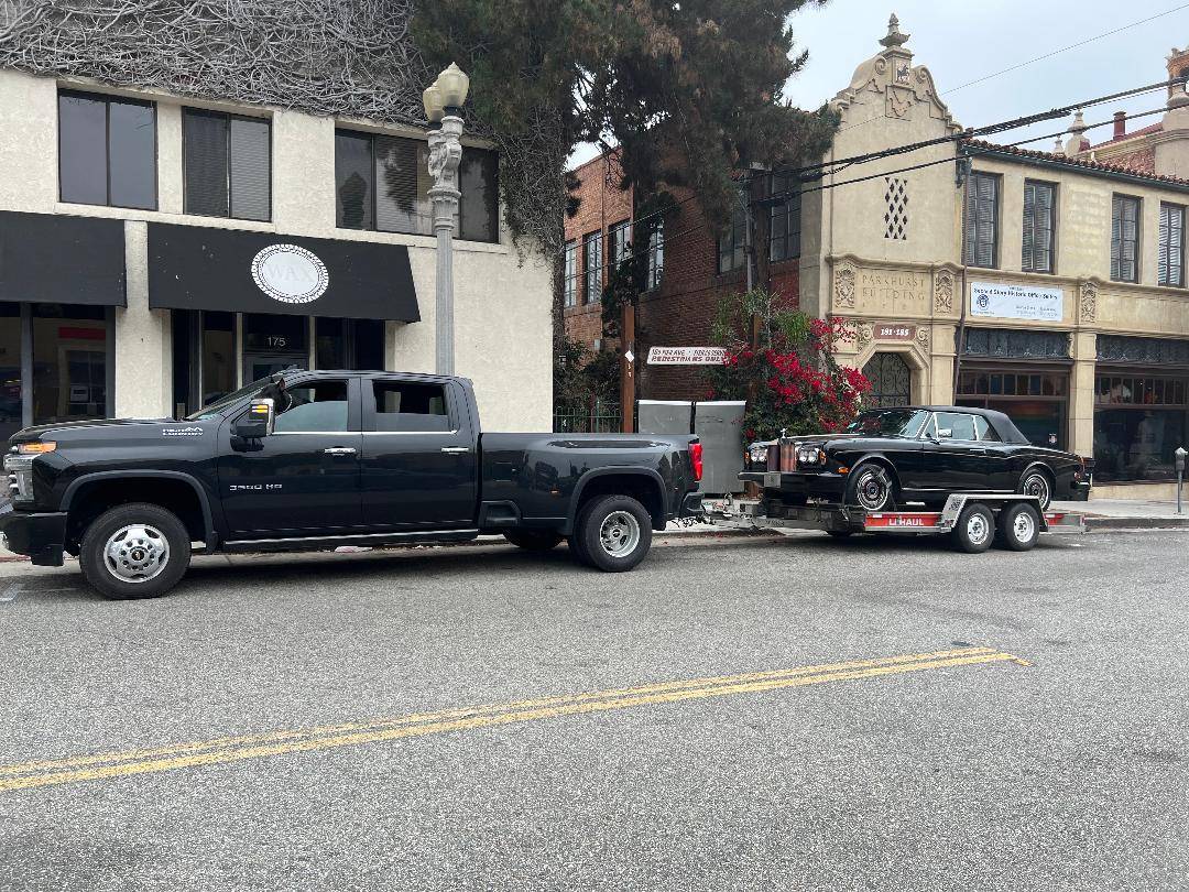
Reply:
[[[561,697],[517,701],[493,705],[419,712],[409,716],[365,722],[325,724],[294,730],[250,734],[235,737],[176,743],[153,749],[97,753],[51,761],[30,761],[0,766],[0,792],[74,784],[84,780],[126,778],[175,768],[224,765],[291,753],[338,749],[364,743],[422,737],[428,734],[473,730],[540,718],[604,712],[629,706],[646,706],[682,701],[759,693],[784,687],[803,687],[828,681],[923,672],[950,666],[1013,661],[1028,665],[1009,653],[989,647],[961,647],[932,653],[901,654],[872,660],[849,660],[800,666],[742,676],[717,676],[684,681],[663,681],[640,687],[591,691]]]

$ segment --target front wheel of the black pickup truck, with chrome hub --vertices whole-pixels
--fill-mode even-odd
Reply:
[[[190,534],[177,515],[146,502],[101,514],[82,538],[78,565],[109,598],[156,598],[190,565]]]

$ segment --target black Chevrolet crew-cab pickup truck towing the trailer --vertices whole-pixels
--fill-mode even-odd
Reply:
[[[181,421],[30,427],[10,441],[0,533],[78,557],[115,598],[155,597],[206,551],[459,542],[503,533],[630,570],[700,509],[694,436],[487,434],[465,378],[285,372]]]

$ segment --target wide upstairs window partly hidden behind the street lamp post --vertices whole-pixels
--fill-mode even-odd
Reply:
[[[433,234],[429,146],[420,139],[339,130],[334,134],[335,225],[345,230]],[[499,240],[499,159],[463,147],[454,234]]]

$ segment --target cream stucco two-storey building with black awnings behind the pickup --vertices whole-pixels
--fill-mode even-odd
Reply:
[[[551,423],[551,274],[464,138],[457,373],[489,428]],[[433,371],[413,125],[0,68],[0,436],[170,416],[276,369]]]

